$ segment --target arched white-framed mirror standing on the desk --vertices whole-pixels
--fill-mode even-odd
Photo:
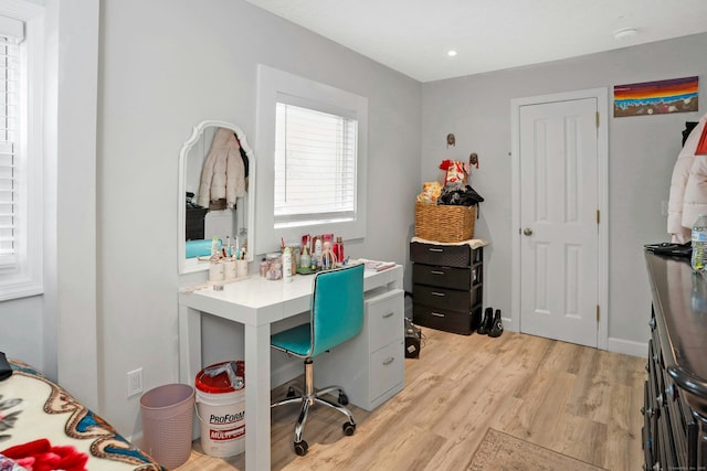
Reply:
[[[179,152],[179,272],[207,270],[211,240],[246,248],[253,261],[255,159],[235,125],[208,120],[194,126]],[[236,239],[238,238],[238,239]]]

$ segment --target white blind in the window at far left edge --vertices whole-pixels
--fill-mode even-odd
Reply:
[[[20,231],[22,171],[20,147],[20,51],[21,38],[2,35],[2,30],[18,32],[21,22],[0,17],[0,269],[12,269],[21,260]]]

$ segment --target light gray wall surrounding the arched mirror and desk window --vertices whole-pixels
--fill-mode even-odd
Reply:
[[[129,435],[139,429],[139,405],[126,399],[126,372],[144,367],[146,388],[177,381],[177,164],[191,128],[233,122],[256,148],[258,63],[368,97],[371,229],[347,253],[404,263],[409,182],[420,180],[421,85],[241,0],[102,7],[102,413]],[[381,221],[388,231],[376,231]],[[204,332],[205,362],[242,358],[236,327],[207,322]]]

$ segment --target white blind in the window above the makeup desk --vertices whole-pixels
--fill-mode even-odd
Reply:
[[[356,217],[358,121],[276,104],[275,227]]]

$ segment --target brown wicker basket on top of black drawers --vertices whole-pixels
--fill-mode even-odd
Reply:
[[[476,205],[452,206],[415,202],[415,237],[436,242],[474,238]]]

